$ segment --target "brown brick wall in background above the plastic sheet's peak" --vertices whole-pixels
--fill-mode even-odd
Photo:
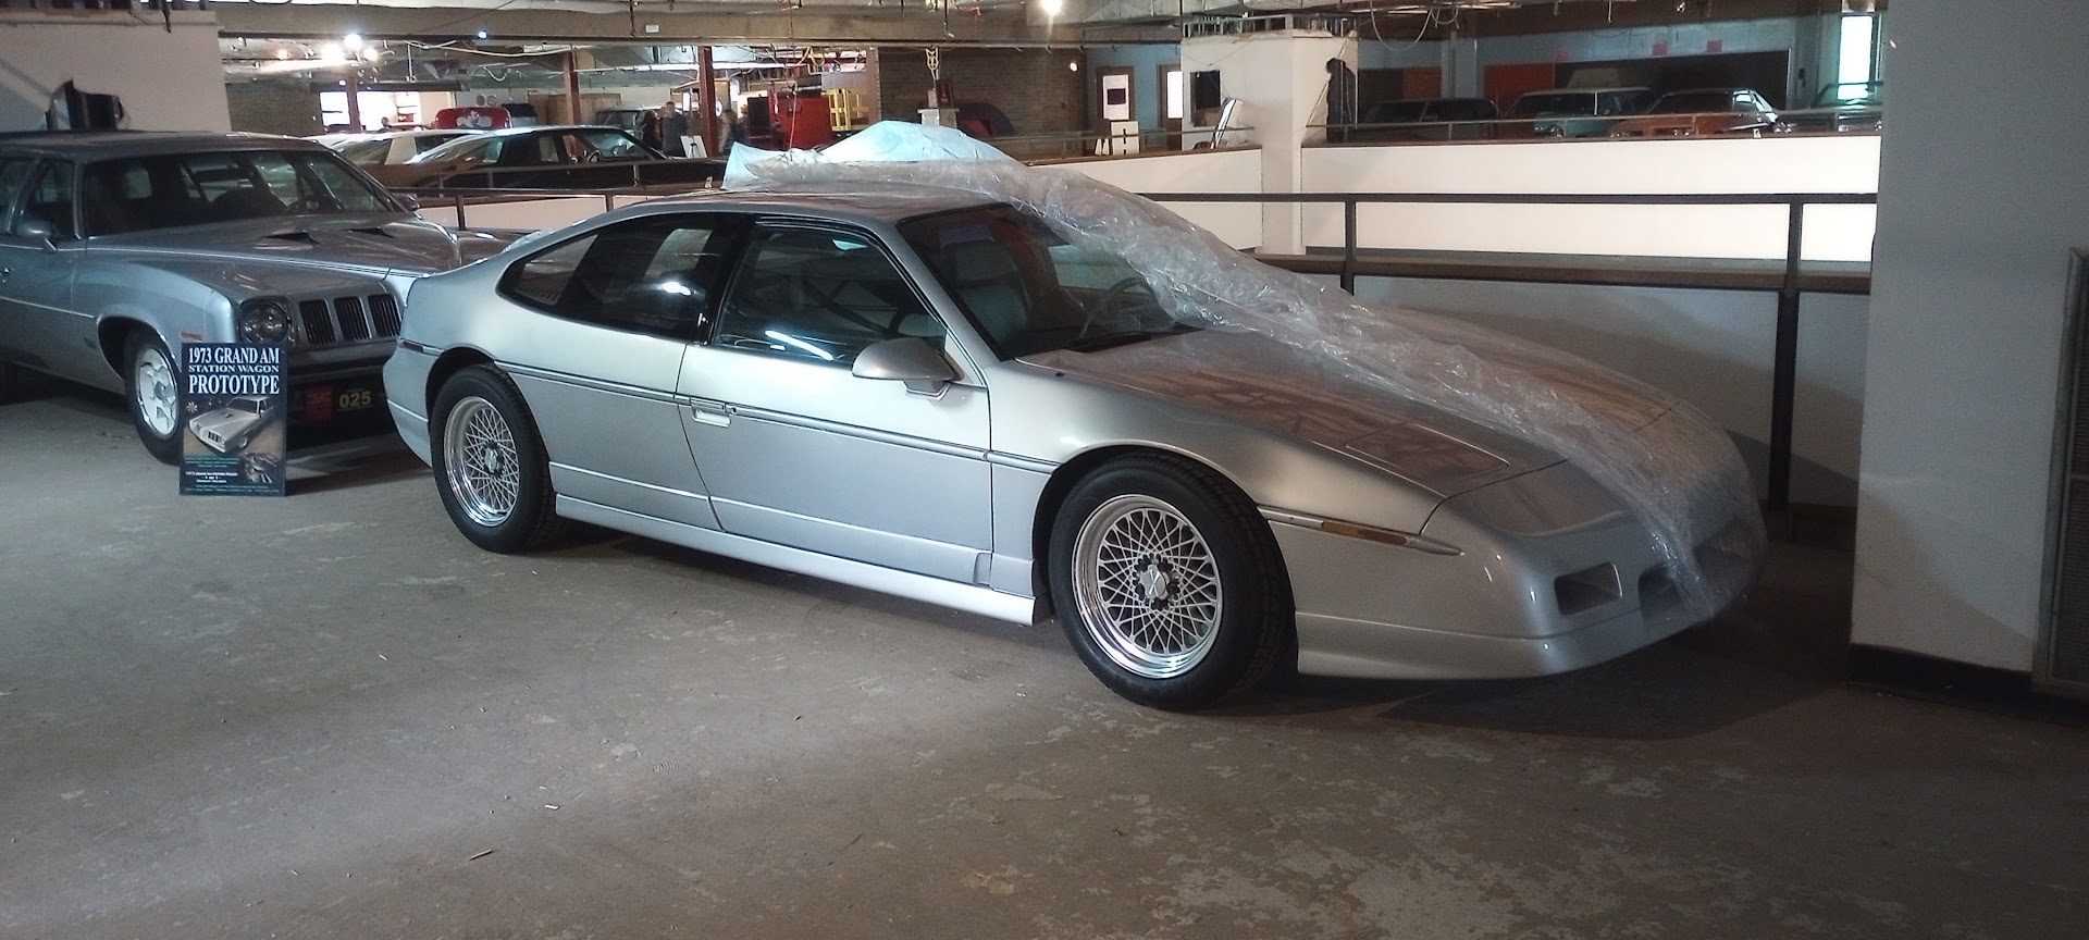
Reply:
[[[1088,127],[1086,75],[1065,65],[1074,50],[946,48],[942,77],[959,102],[988,102],[1009,115],[1015,134],[1063,134]],[[919,121],[928,102],[928,52],[877,50],[879,117]]]

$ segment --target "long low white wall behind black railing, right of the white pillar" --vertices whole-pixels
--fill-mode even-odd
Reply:
[[[1304,192],[1876,192],[1878,136],[1312,146]],[[1268,146],[1268,144],[1264,144]],[[1801,253],[1872,257],[1868,205],[1811,207]],[[1341,207],[1306,209],[1341,246]],[[1784,207],[1364,205],[1366,249],[1782,259]]]

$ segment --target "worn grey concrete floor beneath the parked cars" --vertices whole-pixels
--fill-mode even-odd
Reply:
[[[1053,627],[397,453],[178,497],[0,405],[0,938],[2083,938],[2081,729],[1838,685],[1849,558],[1577,675],[1130,706]]]

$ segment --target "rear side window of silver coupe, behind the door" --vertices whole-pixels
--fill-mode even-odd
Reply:
[[[499,290],[566,320],[698,338],[733,228],[725,215],[623,221],[518,261]]]

